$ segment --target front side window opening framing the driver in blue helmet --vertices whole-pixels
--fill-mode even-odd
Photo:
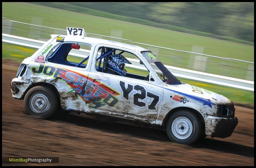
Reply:
[[[149,71],[145,65],[136,55],[125,50],[100,47],[95,68],[98,72],[149,81]],[[152,77],[151,81],[154,81]]]

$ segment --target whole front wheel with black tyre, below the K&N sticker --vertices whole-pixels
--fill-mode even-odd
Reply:
[[[191,144],[201,134],[199,118],[188,110],[174,112],[166,124],[166,133],[172,142]]]

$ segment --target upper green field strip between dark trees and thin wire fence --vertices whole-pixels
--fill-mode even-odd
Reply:
[[[2,16],[11,20],[30,23],[31,17],[38,17],[43,19],[43,26],[65,30],[67,26],[83,27],[86,32],[106,36],[110,36],[111,30],[114,29],[123,31],[123,39],[131,39],[135,42],[171,47],[185,51],[191,51],[192,46],[204,46],[205,54],[235,59],[242,58],[247,61],[254,60],[254,47],[249,45],[60,10],[31,3],[2,4]],[[24,32],[24,35],[26,35],[25,33],[26,32]],[[50,36],[47,36],[47,39],[49,37]]]

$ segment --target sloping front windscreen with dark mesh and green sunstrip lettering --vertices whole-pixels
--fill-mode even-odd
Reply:
[[[156,58],[156,56],[150,51],[141,52],[146,58],[148,63],[153,67],[158,77],[166,84],[169,85],[180,85],[182,84],[164,65]]]

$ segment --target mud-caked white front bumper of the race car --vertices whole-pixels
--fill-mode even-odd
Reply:
[[[236,117],[223,118],[212,115],[208,115],[207,117],[205,117],[204,121],[205,134],[207,136],[220,138],[226,138],[228,136],[231,136],[238,123],[238,119]]]

